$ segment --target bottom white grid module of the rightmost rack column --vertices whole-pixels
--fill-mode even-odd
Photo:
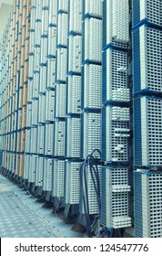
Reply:
[[[161,172],[134,173],[135,237],[161,238]]]

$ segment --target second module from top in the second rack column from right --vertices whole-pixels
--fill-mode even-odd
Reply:
[[[106,49],[103,53],[103,101],[130,101],[127,52]]]

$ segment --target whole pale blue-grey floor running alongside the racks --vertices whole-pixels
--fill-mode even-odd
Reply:
[[[0,175],[0,237],[1,238],[79,238],[83,234],[65,224],[64,213],[54,214],[52,208]]]

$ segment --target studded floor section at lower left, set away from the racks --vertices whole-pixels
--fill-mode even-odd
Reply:
[[[3,192],[0,193],[0,237],[51,238],[56,234],[14,192]]]

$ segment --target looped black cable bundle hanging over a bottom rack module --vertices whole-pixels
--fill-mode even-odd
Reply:
[[[98,157],[101,153],[95,149],[80,167],[80,187],[81,187],[81,207],[86,217],[86,230],[88,237],[92,237],[92,231],[96,225],[96,220],[100,219],[101,201],[100,201],[100,171],[98,168]],[[91,186],[89,186],[91,184]],[[97,205],[97,210],[93,212],[94,206]],[[93,210],[92,210],[93,208]]]

